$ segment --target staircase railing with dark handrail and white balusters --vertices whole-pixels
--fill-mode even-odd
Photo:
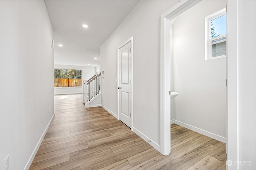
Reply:
[[[83,103],[86,108],[101,106],[100,77],[101,73],[83,81]]]

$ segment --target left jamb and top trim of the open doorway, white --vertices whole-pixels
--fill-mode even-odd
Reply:
[[[170,20],[198,4],[202,0],[181,0],[174,5],[170,10],[166,11],[161,16],[161,31],[160,31],[160,152],[163,155],[170,154],[171,139],[170,139],[170,102],[169,91],[171,77],[170,71]]]

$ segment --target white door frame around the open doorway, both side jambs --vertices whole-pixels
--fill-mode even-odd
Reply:
[[[160,152],[170,154],[170,21],[202,0],[181,0],[161,16],[160,34]],[[228,160],[238,159],[238,2],[228,0],[226,75],[226,152]],[[237,49],[237,50],[234,50]],[[228,57],[230,56],[230,57]],[[232,57],[231,57],[232,56]],[[233,127],[233,128],[232,128]],[[228,140],[230,139],[230,140]],[[237,142],[235,142],[237,141]],[[231,143],[232,142],[232,143]]]

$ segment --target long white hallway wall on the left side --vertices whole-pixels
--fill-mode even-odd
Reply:
[[[52,37],[44,1],[1,1],[1,170],[26,167],[54,115]]]

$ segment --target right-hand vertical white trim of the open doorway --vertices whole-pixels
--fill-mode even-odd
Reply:
[[[227,160],[239,161],[239,0],[228,1],[227,11]],[[226,166],[226,169],[239,169],[239,164]]]

